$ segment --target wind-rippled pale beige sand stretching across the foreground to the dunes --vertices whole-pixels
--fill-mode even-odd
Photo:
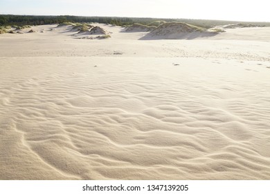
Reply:
[[[0,35],[0,179],[270,179],[270,28]]]

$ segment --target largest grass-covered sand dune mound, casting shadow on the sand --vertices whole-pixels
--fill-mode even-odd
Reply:
[[[183,22],[168,22],[161,24],[156,29],[145,35],[142,39],[194,39],[216,35],[205,28],[193,26]]]

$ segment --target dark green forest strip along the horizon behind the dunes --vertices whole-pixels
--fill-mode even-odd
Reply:
[[[218,25],[226,24],[255,24],[260,26],[270,26],[269,22],[240,22],[240,21],[219,21],[205,19],[162,19],[162,18],[136,18],[136,17],[81,17],[71,15],[61,16],[33,16],[33,15],[0,15],[0,26],[22,26],[22,25],[43,25],[43,24],[60,24],[63,22],[115,24],[116,26],[128,26],[134,23],[150,24],[152,21],[181,21],[195,26],[211,28]]]

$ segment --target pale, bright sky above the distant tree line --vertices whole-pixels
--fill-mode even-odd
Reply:
[[[0,14],[270,21],[267,0],[0,0]]]

